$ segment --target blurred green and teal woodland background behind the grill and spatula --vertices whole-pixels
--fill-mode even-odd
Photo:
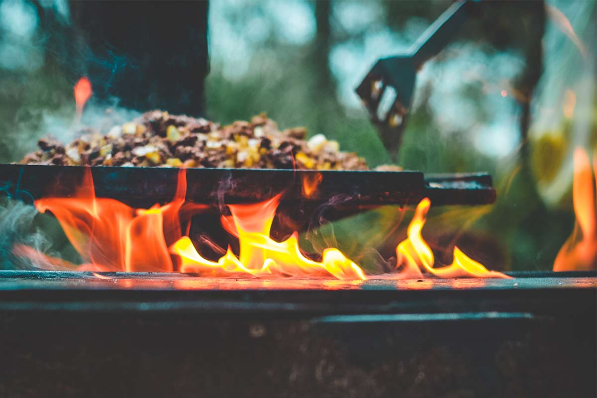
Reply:
[[[90,38],[106,17],[97,10],[65,0],[0,0],[0,162],[20,161],[45,135],[72,138],[72,90],[82,75],[90,76],[97,94],[83,116],[93,125],[107,107],[122,119],[149,110],[140,108],[139,98],[114,93],[141,95],[140,85],[168,78],[168,65],[176,61],[187,65],[188,84],[186,75],[173,81],[173,92],[163,95],[165,110],[222,124],[267,112],[279,127],[305,126],[309,135],[339,141],[371,167],[389,163],[354,89],[378,58],[406,50],[450,4],[195,3],[184,18],[148,21],[150,29],[172,32],[173,39],[164,36],[155,44],[156,50],[164,51],[164,44],[172,50],[163,52],[165,67],[144,75],[131,54]],[[145,5],[137,2],[141,15]],[[574,227],[574,147],[593,157],[597,150],[596,2],[487,1],[479,10],[418,73],[398,163],[423,172],[485,171],[494,177],[494,205],[430,213],[423,236],[439,250],[439,260],[449,264],[457,243],[490,269],[551,269]],[[120,17],[122,32],[133,17]],[[207,33],[208,55],[201,50],[205,35],[189,29],[196,26]],[[176,41],[186,29],[187,40]],[[147,51],[151,46],[139,44]],[[205,81],[193,77],[207,72]],[[408,220],[402,209],[380,208],[303,239],[314,249],[315,239],[335,243],[355,261],[374,263],[368,248],[395,246]],[[355,231],[362,236],[358,242]],[[389,236],[396,239],[383,243]]]

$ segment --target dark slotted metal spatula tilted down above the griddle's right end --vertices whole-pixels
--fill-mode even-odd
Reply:
[[[407,123],[417,70],[451,41],[474,3],[452,4],[404,54],[378,60],[356,88],[394,161]]]

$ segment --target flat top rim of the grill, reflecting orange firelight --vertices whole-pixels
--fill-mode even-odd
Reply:
[[[544,275],[544,274],[543,274]],[[570,275],[570,274],[568,274]],[[0,310],[203,314],[587,313],[597,276],[208,279],[179,273],[0,271]]]

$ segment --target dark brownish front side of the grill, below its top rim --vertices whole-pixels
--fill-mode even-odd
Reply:
[[[5,397],[596,394],[594,314],[436,322],[0,315]]]

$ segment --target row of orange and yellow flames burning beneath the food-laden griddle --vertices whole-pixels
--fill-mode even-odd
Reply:
[[[197,251],[187,236],[191,216],[208,206],[186,203],[185,196],[186,171],[181,169],[171,202],[149,209],[134,209],[115,199],[96,198],[91,169],[87,168],[74,197],[44,198],[35,202],[40,212],[50,211],[58,219],[84,264],[74,266],[66,261],[60,263],[60,259],[49,261],[27,246],[15,248],[14,252],[41,267],[51,264],[53,269],[63,266],[86,271],[180,271],[202,277],[345,280],[507,277],[488,271],[458,248],[454,248],[453,264],[434,268],[433,253],[421,236],[431,205],[429,199],[417,206],[408,227],[408,238],[396,248],[398,262],[390,274],[367,275],[337,248],[324,249],[315,260],[301,251],[297,232],[281,242],[272,239],[272,222],[282,193],[259,203],[228,205],[230,215],[223,215],[220,221],[231,239],[238,239],[239,251],[236,254],[229,247],[219,260],[211,261]]]

